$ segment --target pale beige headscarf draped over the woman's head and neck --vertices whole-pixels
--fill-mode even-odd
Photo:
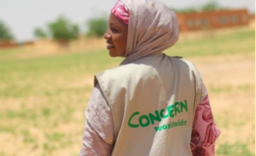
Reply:
[[[124,10],[129,11],[127,52],[121,65],[149,55],[160,54],[178,41],[176,13],[161,1],[120,0],[116,6],[112,12],[121,21],[122,15],[127,15],[123,13]],[[124,10],[120,11],[120,8]],[[125,19],[127,21],[127,18]]]

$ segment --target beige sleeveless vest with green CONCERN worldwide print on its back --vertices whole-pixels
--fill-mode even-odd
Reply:
[[[191,156],[201,78],[188,61],[154,55],[96,75],[112,109],[112,156]]]

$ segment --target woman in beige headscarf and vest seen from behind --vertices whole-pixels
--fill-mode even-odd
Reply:
[[[198,70],[162,53],[178,40],[174,11],[117,1],[109,25],[110,56],[125,59],[95,76],[80,155],[214,155],[220,131]]]

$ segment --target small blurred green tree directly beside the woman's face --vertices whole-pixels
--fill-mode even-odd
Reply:
[[[104,17],[91,18],[87,21],[88,36],[102,37],[107,30],[107,19]]]

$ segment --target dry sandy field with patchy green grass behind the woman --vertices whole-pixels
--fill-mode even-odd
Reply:
[[[198,65],[223,132],[218,155],[256,155],[256,30],[181,40],[166,53]],[[122,59],[103,48],[29,55],[0,50],[0,155],[78,155],[93,75]]]

